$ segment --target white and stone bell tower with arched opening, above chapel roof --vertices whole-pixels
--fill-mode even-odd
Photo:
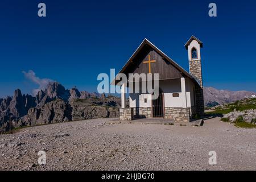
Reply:
[[[203,47],[203,42],[193,35],[185,44],[185,48],[188,50],[189,73],[196,78],[201,88],[203,88],[201,47]]]

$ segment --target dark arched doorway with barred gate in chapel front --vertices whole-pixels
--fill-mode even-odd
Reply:
[[[163,101],[163,92],[159,88],[159,97],[155,100],[152,100],[152,112],[154,118],[161,118],[164,116]]]

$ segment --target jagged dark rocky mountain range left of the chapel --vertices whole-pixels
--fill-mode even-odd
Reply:
[[[3,130],[11,127],[34,126],[54,122],[76,121],[92,118],[119,117],[121,99],[105,94],[70,90],[58,82],[50,82],[35,97],[16,89],[13,97],[0,98],[0,122]],[[1,125],[2,126],[2,125]],[[1,129],[0,129],[1,130]]]

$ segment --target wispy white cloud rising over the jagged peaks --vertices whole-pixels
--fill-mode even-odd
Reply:
[[[34,71],[30,70],[28,72],[22,72],[24,74],[24,76],[34,82],[35,84],[39,85],[38,89],[34,89],[32,90],[32,94],[35,96],[40,90],[44,90],[46,89],[46,86],[48,85],[49,82],[53,82],[53,80],[49,79],[49,78],[39,78],[36,77],[36,74]]]

